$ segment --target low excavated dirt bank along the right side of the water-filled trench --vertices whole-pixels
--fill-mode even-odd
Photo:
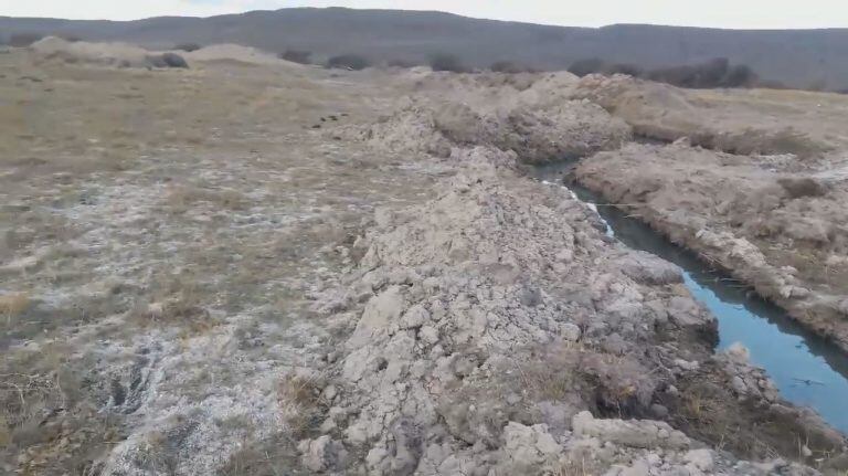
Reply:
[[[792,162],[630,145],[576,173],[848,351],[848,180],[838,170],[784,171]]]

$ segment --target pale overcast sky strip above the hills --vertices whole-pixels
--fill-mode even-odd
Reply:
[[[442,10],[579,27],[655,23],[718,28],[848,28],[848,0],[0,0],[0,15],[135,20],[286,7]]]

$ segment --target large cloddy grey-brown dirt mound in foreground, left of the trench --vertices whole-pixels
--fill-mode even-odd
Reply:
[[[788,409],[744,351],[711,355],[714,319],[676,266],[607,242],[589,207],[519,179],[511,157],[465,150],[436,200],[378,210],[356,242],[359,268],[319,300],[352,332],[331,378],[298,377],[318,382],[319,408],[288,413],[320,421],[298,445],[303,464],[371,475],[802,474],[738,462],[654,420],[668,416],[659,402],[686,405],[687,381],[734,375],[751,382],[722,402],[740,422],[750,403]],[[842,444],[788,412],[774,417],[786,425],[777,433]],[[748,438],[739,431],[731,445]]]

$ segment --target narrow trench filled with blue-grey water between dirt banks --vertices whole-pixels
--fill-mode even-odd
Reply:
[[[538,180],[564,187],[564,179],[575,162],[538,167],[532,174]],[[568,188],[597,210],[608,236],[682,269],[686,286],[718,319],[717,350],[742,343],[750,350],[752,363],[765,369],[784,399],[815,410],[830,426],[848,434],[848,356],[806,330],[749,286],[712,269],[695,253],[671,243],[622,210],[604,207],[597,193],[572,181]]]

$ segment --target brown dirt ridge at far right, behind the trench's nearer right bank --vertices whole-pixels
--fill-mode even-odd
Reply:
[[[733,94],[738,93],[729,92],[727,96]],[[602,105],[633,126],[638,136],[668,142],[686,137],[692,145],[732,154],[793,154],[813,160],[834,151],[837,144],[848,141],[838,126],[823,129],[808,109],[789,108],[788,101],[757,103],[742,96],[734,103],[732,97],[713,91],[687,91],[623,75],[585,76],[572,96]],[[804,99],[809,103],[808,107],[816,109],[817,117],[826,113],[822,110],[823,98],[818,103],[814,98]],[[848,102],[836,105],[834,115],[848,110]],[[767,109],[759,114],[755,107]],[[798,120],[786,120],[793,116]]]

